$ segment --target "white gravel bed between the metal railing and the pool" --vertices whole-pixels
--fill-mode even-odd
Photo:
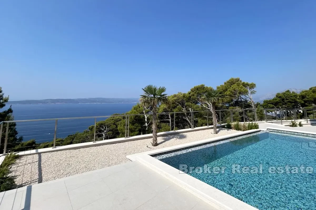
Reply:
[[[152,139],[141,139],[111,145],[94,146],[77,150],[64,150],[22,156],[11,168],[11,175],[20,186],[37,184],[83,172],[128,162],[126,156],[139,152],[209,139],[240,131],[219,128],[180,133],[158,137],[158,146],[151,145]]]

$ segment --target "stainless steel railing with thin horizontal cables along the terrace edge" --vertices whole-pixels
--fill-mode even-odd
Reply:
[[[304,119],[306,119],[306,121],[308,122],[308,116],[307,116],[307,111],[311,112],[312,111],[312,115],[313,115],[313,119],[315,118],[315,110],[314,109],[261,109],[263,111],[262,114],[264,114],[264,119],[261,118],[259,120],[268,122],[269,118],[268,116],[271,118],[276,118],[276,120],[280,119],[281,120],[281,124],[283,123],[284,120],[287,120],[288,118],[290,118],[289,113],[291,113],[293,120],[297,120],[298,116],[297,113],[304,113]],[[256,122],[256,119],[253,116],[250,116],[251,113],[254,113],[254,111],[257,111],[257,109],[253,110],[252,108],[248,108],[248,109],[225,109],[225,110],[216,110],[216,115],[217,118],[219,120],[219,122]],[[273,112],[275,112],[274,114],[272,114]],[[183,117],[183,119],[187,120],[187,123],[189,125],[189,127],[194,128],[195,125],[197,125],[197,123],[195,122],[197,117],[196,114],[197,113],[204,113],[204,115],[200,116],[200,117],[205,117],[206,118],[206,126],[209,126],[209,118],[212,118],[212,114],[211,111],[209,110],[204,110],[204,111],[182,111],[182,112],[162,112],[162,113],[157,113],[158,115],[168,115],[169,116],[169,126],[170,126],[170,130],[176,130],[176,117]],[[279,113],[279,114],[278,114]],[[131,136],[132,132],[137,132],[138,128],[133,128],[133,122],[130,122],[130,118],[133,116],[150,116],[152,115],[151,113],[148,114],[131,114],[131,115],[110,115],[110,116],[88,116],[88,117],[67,117],[67,118],[51,118],[51,119],[34,119],[34,120],[13,120],[13,121],[3,121],[0,122],[0,148],[2,145],[2,136],[3,136],[3,128],[5,127],[5,138],[4,138],[4,146],[3,146],[3,154],[6,154],[7,152],[7,146],[8,144],[8,135],[9,135],[9,125],[10,123],[23,123],[23,122],[46,122],[46,121],[53,121],[54,123],[52,124],[47,124],[47,125],[54,125],[53,128],[50,129],[38,129],[38,130],[30,130],[30,131],[20,131],[21,133],[23,132],[38,132],[38,131],[44,131],[44,130],[53,130],[54,131],[54,136],[53,138],[47,138],[47,139],[39,139],[36,141],[42,141],[42,140],[52,140],[53,139],[53,148],[56,148],[56,139],[57,138],[66,138],[65,137],[58,137],[58,134],[64,134],[64,133],[74,133],[75,131],[70,131],[70,132],[59,132],[58,133],[58,125],[60,124],[75,124],[76,122],[66,122],[66,123],[59,123],[61,121],[65,121],[65,120],[82,120],[82,119],[93,119],[94,120],[94,130],[93,130],[93,140],[92,139],[83,139],[83,140],[88,140],[88,141],[93,141],[96,142],[97,137],[96,137],[96,125],[97,125],[97,119],[99,118],[110,118],[110,117],[121,117],[122,119],[125,119],[125,136],[120,136],[120,137],[125,137],[128,138]],[[173,117],[172,117],[173,116]],[[173,128],[172,128],[172,118],[173,118]],[[243,120],[241,120],[243,119]],[[198,120],[198,119],[197,119]],[[101,120],[102,121],[102,120]],[[136,122],[136,123],[146,123],[147,126],[149,126],[149,124],[147,124],[148,122]],[[40,125],[27,125],[27,126],[40,126]],[[24,126],[24,127],[27,127]],[[46,126],[46,125],[45,125]],[[70,125],[71,126],[71,125]],[[23,127],[23,126],[21,126]],[[79,127],[85,127],[87,128],[87,126],[75,126],[75,127],[66,127],[66,128],[79,128]],[[66,128],[59,128],[59,129],[66,129]],[[79,131],[78,131],[79,132]],[[82,130],[80,132],[83,132]],[[29,137],[33,137],[33,136],[43,136],[43,135],[52,135],[52,133],[45,133],[45,134],[39,134],[39,135],[31,135]],[[67,134],[64,134],[67,135]],[[69,135],[68,135],[69,136]],[[27,136],[24,136],[27,137]],[[111,136],[114,138],[117,138],[118,136]]]

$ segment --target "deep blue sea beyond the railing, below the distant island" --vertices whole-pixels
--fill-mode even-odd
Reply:
[[[130,111],[136,103],[117,104],[13,104],[14,120],[34,120],[67,117],[109,116],[115,113],[122,114]],[[7,104],[0,111],[7,109]],[[107,117],[97,118],[97,122]],[[87,130],[94,125],[91,119],[58,120],[57,138],[65,138],[70,134]],[[55,120],[17,122],[18,136],[23,136],[23,141],[35,139],[37,143],[52,141],[54,139]]]

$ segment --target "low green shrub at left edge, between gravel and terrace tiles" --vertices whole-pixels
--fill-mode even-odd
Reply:
[[[14,177],[10,176],[10,167],[13,164],[18,155],[14,153],[9,153],[5,156],[2,164],[0,165],[0,192],[6,190],[12,190],[15,188]]]

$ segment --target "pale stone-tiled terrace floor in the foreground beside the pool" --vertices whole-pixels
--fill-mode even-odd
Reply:
[[[214,210],[137,161],[1,192],[0,209]]]

